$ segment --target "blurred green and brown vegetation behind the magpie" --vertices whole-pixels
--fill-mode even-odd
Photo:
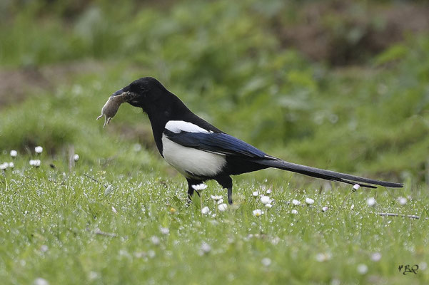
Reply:
[[[89,165],[153,167],[141,111],[94,120],[153,76],[278,157],[429,184],[426,1],[4,0],[0,38],[4,153],[42,145],[55,160],[74,145]]]

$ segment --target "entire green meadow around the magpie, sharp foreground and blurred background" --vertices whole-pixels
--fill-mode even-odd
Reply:
[[[279,36],[298,2],[167,2],[0,10],[1,283],[428,284],[428,34],[362,50],[379,23],[327,13],[361,57],[315,61]],[[141,110],[96,120],[143,76],[271,155],[404,187],[263,170],[233,177],[226,209],[216,182],[187,207]]]

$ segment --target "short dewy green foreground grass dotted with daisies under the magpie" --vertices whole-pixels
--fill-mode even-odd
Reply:
[[[138,156],[142,154],[138,154]],[[5,158],[5,155],[1,156]],[[0,276],[3,284],[427,284],[428,270],[404,276],[400,264],[428,262],[424,190],[364,190],[236,179],[236,205],[220,212],[214,182],[190,207],[181,177],[148,170],[58,162],[30,167],[27,157],[1,176]],[[55,162],[54,162],[55,163]],[[94,182],[86,175],[94,177]],[[6,185],[5,185],[6,183]],[[106,194],[106,185],[113,191]],[[266,210],[253,191],[273,190]],[[408,197],[400,206],[398,197]],[[315,200],[306,205],[305,198]],[[365,200],[375,197],[376,207]],[[293,206],[292,199],[301,201]],[[201,204],[211,214],[201,214]],[[354,209],[350,207],[354,204]],[[328,206],[327,212],[322,207]],[[113,210],[113,208],[115,210]],[[253,209],[265,214],[254,217]],[[291,214],[297,209],[298,214]],[[422,219],[379,217],[378,212]],[[161,227],[168,234],[161,233]],[[96,234],[114,233],[116,237]],[[158,241],[158,242],[157,242]],[[203,243],[211,250],[201,252]],[[381,259],[373,261],[372,254]],[[321,255],[322,254],[322,255]],[[321,261],[325,257],[325,260]],[[263,265],[263,259],[271,264]],[[365,264],[368,272],[358,273]]]

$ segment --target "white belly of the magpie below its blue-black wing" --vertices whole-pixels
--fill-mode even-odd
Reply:
[[[225,155],[183,147],[162,136],[164,159],[186,177],[215,176],[226,163]]]

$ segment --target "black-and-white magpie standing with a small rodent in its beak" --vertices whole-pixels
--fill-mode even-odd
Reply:
[[[114,102],[117,102],[116,105]],[[358,184],[362,187],[376,188],[374,185],[403,187],[400,183],[298,165],[268,155],[243,140],[224,133],[192,113],[176,95],[155,78],[140,78],[113,93],[104,106],[102,115],[106,115],[106,119],[110,120],[123,102],[142,108],[148,115],[159,153],[188,181],[189,202],[193,197],[193,185],[206,180],[216,180],[228,190],[228,203],[232,204],[231,175],[268,167],[350,185]],[[110,114],[106,111],[109,105]]]

